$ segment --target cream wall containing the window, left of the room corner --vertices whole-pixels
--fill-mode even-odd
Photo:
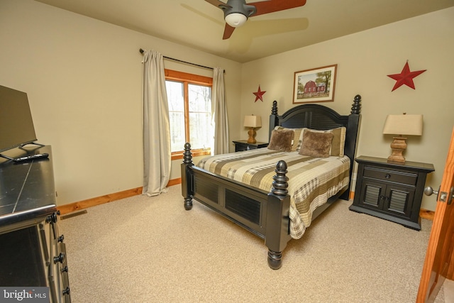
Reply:
[[[38,142],[52,145],[58,204],[142,186],[139,48],[224,68],[227,97],[240,99],[237,62],[32,0],[0,1],[0,41],[0,84],[28,94]],[[168,60],[165,67],[213,75]]]

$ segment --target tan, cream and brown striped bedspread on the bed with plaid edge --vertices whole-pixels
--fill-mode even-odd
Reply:
[[[348,157],[314,158],[297,151],[258,148],[203,158],[197,166],[269,192],[279,160],[288,165],[290,234],[301,238],[311,225],[314,210],[348,184]]]

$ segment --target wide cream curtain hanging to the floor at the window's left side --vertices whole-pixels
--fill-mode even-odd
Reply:
[[[143,52],[143,190],[156,196],[167,192],[170,179],[169,104],[164,62],[155,50]]]

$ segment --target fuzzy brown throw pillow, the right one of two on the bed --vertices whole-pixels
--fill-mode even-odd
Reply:
[[[333,133],[330,132],[323,133],[305,130],[299,155],[309,155],[319,158],[329,157],[333,136]]]

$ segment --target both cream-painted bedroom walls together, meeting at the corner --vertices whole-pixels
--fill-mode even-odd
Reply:
[[[226,69],[231,140],[247,138],[243,117],[258,114],[265,127],[257,139],[267,141],[272,101],[280,113],[293,106],[294,72],[338,64],[335,101],[324,105],[348,114],[361,94],[358,155],[389,155],[387,114],[424,114],[423,136],[409,138],[406,158],[433,163],[427,184],[441,183],[453,129],[453,8],[243,65],[32,0],[0,0],[0,40],[0,84],[28,93],[39,142],[52,145],[59,204],[142,186],[139,48]],[[414,79],[415,90],[391,92],[387,75],[406,60],[427,72]],[[167,60],[165,67],[211,76]],[[254,101],[259,85],[263,102]],[[422,206],[435,209],[435,198],[424,197]]]

